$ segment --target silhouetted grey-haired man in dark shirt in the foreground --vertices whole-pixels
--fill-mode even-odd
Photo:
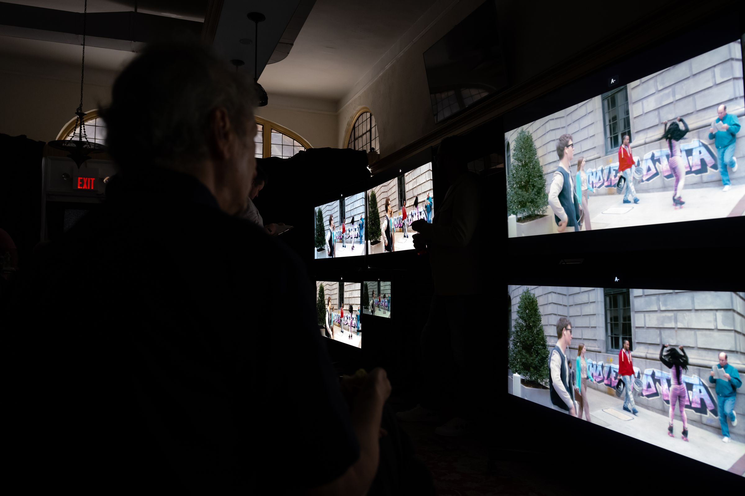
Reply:
[[[34,326],[17,458],[37,484],[370,488],[390,383],[373,370],[345,403],[302,265],[236,216],[256,169],[251,88],[188,44],[150,45],[115,82],[102,115],[119,173],[50,245],[21,308]],[[278,315],[290,339],[268,330]]]

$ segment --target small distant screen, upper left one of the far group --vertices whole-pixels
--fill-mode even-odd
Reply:
[[[364,214],[364,192],[316,207],[315,258],[364,255]]]

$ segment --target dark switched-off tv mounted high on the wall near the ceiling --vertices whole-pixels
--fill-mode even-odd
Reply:
[[[509,85],[495,0],[485,1],[424,53],[435,122]]]

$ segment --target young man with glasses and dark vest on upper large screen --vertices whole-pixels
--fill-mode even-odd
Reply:
[[[557,144],[559,167],[548,190],[548,204],[554,210],[554,218],[559,225],[559,233],[578,231],[580,206],[574,201],[574,182],[571,179],[571,159],[574,157],[574,143],[571,135],[559,136]]]

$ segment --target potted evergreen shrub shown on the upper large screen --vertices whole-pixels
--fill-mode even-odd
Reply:
[[[546,178],[533,136],[525,129],[521,129],[515,138],[510,164],[510,175],[507,176],[507,215],[517,217],[517,235],[533,236],[553,232],[554,216],[547,215]]]

